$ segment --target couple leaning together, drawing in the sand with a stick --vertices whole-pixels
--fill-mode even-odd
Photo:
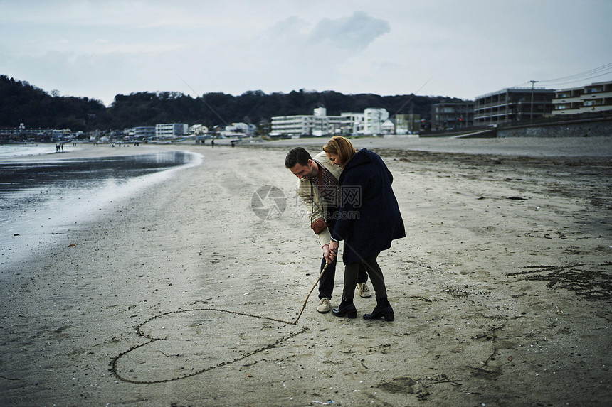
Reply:
[[[406,237],[391,183],[382,159],[366,148],[356,151],[342,136],[330,139],[315,158],[304,148],[287,153],[285,167],[297,178],[297,195],[306,204],[311,228],[323,249],[317,310],[330,308],[339,242],[344,240],[344,289],[337,317],[357,318],[355,288],[369,297],[367,276],[376,293],[376,308],[366,320],[394,320],[384,276],[376,258],[394,239]]]

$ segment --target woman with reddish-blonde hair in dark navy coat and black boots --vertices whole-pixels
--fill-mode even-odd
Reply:
[[[323,151],[329,161],[342,168],[339,180],[342,202],[339,219],[332,230],[329,256],[336,256],[338,242],[344,240],[344,290],[342,302],[332,313],[338,317],[357,318],[353,298],[357,271],[359,265],[364,264],[376,291],[376,308],[365,314],[364,319],[392,321],[394,312],[387,300],[383,273],[376,257],[391,247],[391,241],[406,237],[391,188],[393,175],[378,155],[366,148],[355,151],[344,137],[332,137]]]

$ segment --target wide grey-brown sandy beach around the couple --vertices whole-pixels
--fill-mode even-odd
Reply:
[[[355,139],[406,224],[379,256],[396,318],[315,288],[295,323],[321,251],[283,163],[326,140],[63,153],[203,160],[0,270],[0,404],[608,405],[612,137]]]

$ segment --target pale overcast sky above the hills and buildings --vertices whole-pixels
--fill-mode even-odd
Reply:
[[[0,0],[0,75],[117,94],[473,100],[612,80],[612,0]]]

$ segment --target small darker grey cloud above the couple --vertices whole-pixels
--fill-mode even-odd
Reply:
[[[332,20],[325,18],[310,34],[310,43],[328,42],[345,50],[364,50],[376,38],[389,33],[387,21],[355,11],[352,16]]]

